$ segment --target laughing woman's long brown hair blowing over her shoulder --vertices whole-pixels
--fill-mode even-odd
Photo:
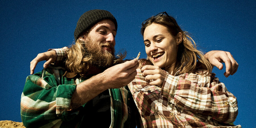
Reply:
[[[141,34],[143,36],[145,28],[150,24],[161,24],[168,28],[168,31],[176,37],[176,35],[181,32],[183,36],[183,41],[178,45],[177,51],[177,61],[174,69],[174,73],[180,71],[183,73],[196,73],[198,69],[205,69],[207,72],[203,72],[201,75],[209,75],[212,72],[212,66],[207,59],[205,59],[203,53],[196,49],[195,41],[189,36],[185,31],[182,31],[176,20],[171,16],[158,15],[149,18],[141,28]],[[193,43],[192,43],[193,42]],[[201,62],[202,65],[199,66],[197,61]],[[140,65],[147,63],[141,61]],[[168,67],[165,67],[165,69]]]

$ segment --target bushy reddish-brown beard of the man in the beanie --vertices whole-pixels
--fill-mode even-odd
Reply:
[[[112,44],[89,41],[85,42],[84,46],[86,52],[91,55],[89,63],[92,66],[105,69],[113,65],[115,48]],[[104,51],[102,51],[102,46],[110,46],[111,53],[104,49]]]

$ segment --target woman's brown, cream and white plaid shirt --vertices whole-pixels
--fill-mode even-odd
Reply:
[[[168,74],[161,88],[146,82],[137,69],[128,87],[141,114],[141,127],[241,127],[228,124],[238,114],[237,100],[214,76]]]

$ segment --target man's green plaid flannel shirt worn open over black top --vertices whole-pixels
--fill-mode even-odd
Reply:
[[[90,123],[83,120],[84,116],[90,116],[83,112],[86,104],[75,110],[70,105],[76,85],[89,78],[79,75],[72,79],[66,78],[63,76],[65,72],[63,67],[49,66],[27,77],[20,103],[25,127],[79,127],[82,123]],[[136,127],[133,115],[137,108],[128,87],[109,89],[109,92],[110,127]]]

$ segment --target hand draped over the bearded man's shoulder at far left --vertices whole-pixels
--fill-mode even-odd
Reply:
[[[56,58],[57,56],[54,50],[39,53],[36,58],[30,62],[30,74],[32,75],[34,73],[38,62],[46,60],[46,62],[44,63],[44,68],[47,68],[48,65],[56,61]]]

